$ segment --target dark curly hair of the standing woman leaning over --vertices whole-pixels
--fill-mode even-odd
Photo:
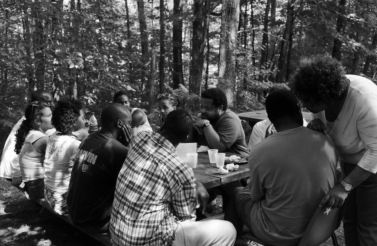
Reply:
[[[348,79],[340,61],[328,55],[311,55],[300,60],[290,85],[303,100],[333,104],[346,93]]]

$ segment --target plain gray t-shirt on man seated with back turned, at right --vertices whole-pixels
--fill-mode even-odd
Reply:
[[[337,153],[325,134],[297,127],[274,133],[249,155],[253,233],[297,245],[320,200],[336,181]]]

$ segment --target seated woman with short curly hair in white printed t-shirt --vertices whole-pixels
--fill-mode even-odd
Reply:
[[[47,142],[44,158],[44,199],[57,214],[66,215],[67,192],[74,157],[80,141],[72,134],[87,136],[83,103],[72,98],[58,101],[52,112],[52,125],[57,132]],[[79,130],[80,129],[80,130]]]

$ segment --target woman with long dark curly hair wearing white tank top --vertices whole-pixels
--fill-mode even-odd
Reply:
[[[25,120],[18,128],[14,151],[19,156],[22,181],[32,199],[44,197],[44,152],[51,125],[51,109],[45,102],[34,101],[25,110]]]

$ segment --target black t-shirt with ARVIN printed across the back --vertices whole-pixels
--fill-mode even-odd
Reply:
[[[96,131],[78,147],[67,204],[75,226],[103,228],[110,220],[115,184],[128,149],[110,134]]]

